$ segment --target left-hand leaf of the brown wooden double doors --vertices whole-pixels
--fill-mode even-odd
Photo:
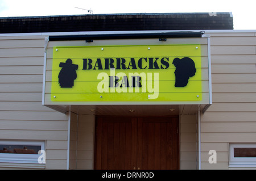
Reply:
[[[96,169],[133,169],[136,165],[137,120],[98,117]]]

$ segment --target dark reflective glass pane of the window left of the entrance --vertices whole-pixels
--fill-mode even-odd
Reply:
[[[41,146],[31,145],[0,145],[0,153],[38,154]]]

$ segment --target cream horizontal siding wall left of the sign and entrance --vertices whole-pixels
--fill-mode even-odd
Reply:
[[[43,64],[44,36],[0,37],[0,138],[43,140],[46,169],[66,169],[68,117],[42,106]]]

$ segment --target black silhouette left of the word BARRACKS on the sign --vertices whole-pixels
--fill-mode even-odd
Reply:
[[[65,63],[60,62],[59,66],[62,68],[58,76],[60,87],[72,88],[77,77],[76,70],[78,69],[78,65],[72,64],[72,60],[68,58]]]

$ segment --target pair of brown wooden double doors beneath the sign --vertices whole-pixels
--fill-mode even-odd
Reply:
[[[177,117],[97,117],[94,168],[179,169]]]

